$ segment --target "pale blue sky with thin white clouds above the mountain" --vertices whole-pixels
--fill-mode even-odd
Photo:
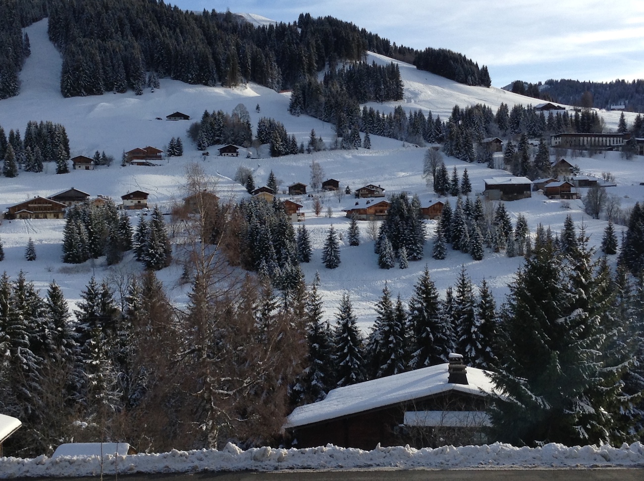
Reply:
[[[251,13],[294,22],[331,15],[396,44],[449,48],[513,80],[644,78],[641,0],[168,0],[184,10]]]

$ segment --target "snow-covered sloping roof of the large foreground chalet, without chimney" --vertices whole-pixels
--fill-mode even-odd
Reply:
[[[296,428],[450,390],[482,396],[493,393],[494,385],[485,371],[468,367],[469,384],[451,384],[447,382],[448,366],[437,364],[334,389],[323,401],[295,408],[283,427]]]

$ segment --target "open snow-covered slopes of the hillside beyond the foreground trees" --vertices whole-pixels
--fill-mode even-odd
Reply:
[[[261,20],[261,19],[260,19]],[[120,196],[137,189],[150,193],[149,202],[158,203],[167,209],[174,200],[182,198],[181,185],[184,182],[185,166],[198,162],[207,173],[218,176],[218,195],[223,198],[239,200],[247,196],[242,185],[231,179],[240,165],[253,169],[256,184],[264,184],[272,170],[279,180],[281,189],[294,182],[309,183],[312,160],[321,164],[325,178],[336,178],[342,187],[349,185],[356,189],[365,184],[380,184],[386,194],[407,191],[418,193],[426,205],[437,196],[428,192],[424,178],[421,176],[422,158],[425,149],[404,145],[389,138],[372,136],[372,149],[355,151],[322,151],[313,155],[295,155],[281,158],[245,158],[246,151],[238,158],[220,158],[211,148],[211,156],[204,157],[192,145],[186,135],[191,121],[169,122],[156,120],[165,118],[175,111],[190,115],[194,120],[201,118],[204,109],[208,111],[222,109],[230,112],[240,103],[245,104],[251,113],[251,124],[257,125],[261,117],[273,117],[283,122],[289,135],[294,134],[298,142],[307,142],[311,129],[315,129],[327,144],[334,138],[330,124],[307,116],[294,117],[287,113],[289,93],[276,93],[254,84],[236,89],[210,88],[191,86],[175,80],[162,79],[161,88],[151,93],[136,96],[129,91],[124,94],[106,93],[94,97],[74,97],[64,99],[59,91],[59,73],[61,56],[55,50],[46,34],[46,19],[33,24],[26,31],[29,34],[32,55],[26,61],[21,72],[21,93],[19,96],[0,101],[0,125],[8,133],[10,129],[24,131],[29,120],[52,120],[66,127],[70,138],[71,155],[92,156],[95,151],[105,151],[117,160],[108,168],[96,171],[72,171],[69,174],[54,174],[54,165],[46,165],[44,173],[25,173],[13,179],[0,177],[0,207],[22,202],[33,196],[50,196],[64,189],[75,187],[81,191],[109,195],[117,203]],[[369,61],[389,62],[380,55],[369,55]],[[509,106],[515,103],[529,104],[535,99],[522,97],[498,88],[469,87],[451,80],[437,77],[431,73],[416,70],[415,67],[400,63],[404,79],[403,108],[408,110],[431,110],[441,118],[449,117],[455,104],[468,106],[474,103],[485,103],[493,110],[501,102]],[[390,111],[398,102],[372,104],[380,111]],[[260,112],[256,112],[256,106]],[[616,127],[618,113],[604,113],[607,126]],[[631,120],[631,119],[629,119]],[[184,140],[184,156],[164,160],[158,167],[120,167],[121,153],[135,147],[156,146],[166,149],[172,137]],[[256,156],[252,149],[251,154]],[[480,193],[484,187],[484,178],[506,174],[503,171],[487,169],[481,164],[466,164],[455,158],[446,158],[446,165],[451,172],[456,166],[459,174],[467,167],[473,191]],[[616,177],[617,187],[612,192],[622,198],[623,205],[632,205],[642,199],[644,181],[642,158],[633,161],[622,160],[616,153],[605,157],[576,158],[576,163],[584,174],[598,174],[611,171]],[[286,197],[286,196],[284,196]],[[361,327],[366,331],[375,317],[374,302],[381,295],[384,283],[388,282],[393,295],[400,292],[403,299],[408,299],[419,274],[426,263],[430,267],[433,280],[441,294],[455,281],[461,265],[465,265],[474,283],[486,278],[497,298],[497,303],[504,300],[507,283],[513,278],[521,258],[507,258],[502,254],[486,252],[482,261],[473,261],[470,256],[450,250],[444,261],[431,259],[431,236],[435,222],[427,222],[428,243],[425,247],[423,261],[411,263],[409,269],[381,270],[377,267],[373,241],[368,240],[367,223],[362,223],[362,240],[359,247],[349,247],[346,241],[348,220],[341,209],[352,207],[355,199],[345,196],[338,200],[328,195],[324,198],[323,214],[328,207],[332,217],[323,214],[316,217],[312,212],[312,199],[307,196],[294,198],[304,205],[306,225],[314,243],[312,262],[302,266],[307,281],[312,281],[319,271],[322,281],[321,294],[325,298],[325,316],[334,319],[339,299],[344,291],[350,294],[354,310]],[[455,199],[451,199],[452,204]],[[605,222],[590,220],[582,210],[580,201],[559,202],[547,200],[540,194],[533,198],[506,204],[513,220],[520,213],[527,217],[531,230],[538,223],[550,225],[558,232],[566,214],[571,214],[576,223],[583,222],[591,234],[591,242],[599,243]],[[135,216],[136,214],[133,214]],[[137,220],[132,219],[133,225]],[[327,270],[321,263],[321,247],[328,230],[333,224],[343,234],[341,247],[341,265],[338,269]],[[127,272],[129,269],[141,270],[135,262],[124,262],[117,267],[108,268],[104,261],[87,262],[79,266],[65,265],[61,262],[62,220],[3,221],[0,225],[0,238],[5,246],[6,258],[0,263],[0,270],[6,270],[12,278],[20,269],[27,272],[27,278],[35,281],[37,287],[44,289],[52,279],[61,285],[64,295],[71,302],[79,299],[81,290],[86,286],[91,275],[97,278],[109,277],[115,272]],[[37,248],[37,260],[24,261],[24,248],[28,238],[33,238]],[[176,280],[180,269],[171,266],[160,272],[159,277],[170,290],[176,301],[185,301],[185,288]]]

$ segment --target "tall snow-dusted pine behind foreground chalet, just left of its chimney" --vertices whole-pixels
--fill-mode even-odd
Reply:
[[[413,331],[410,367],[419,369],[447,362],[454,347],[454,332],[442,316],[439,292],[427,266],[413,287],[409,323]]]

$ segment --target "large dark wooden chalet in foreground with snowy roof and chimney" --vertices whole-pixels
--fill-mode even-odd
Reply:
[[[450,363],[331,390],[323,401],[292,411],[283,428],[297,448],[483,444],[494,395],[486,372],[451,354]]]

